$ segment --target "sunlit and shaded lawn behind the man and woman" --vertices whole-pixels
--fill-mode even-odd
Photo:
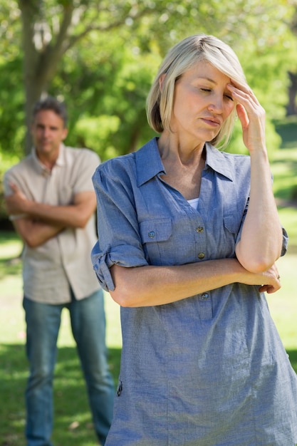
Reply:
[[[282,288],[267,296],[273,320],[293,368],[297,372],[297,208],[292,190],[297,185],[297,121],[282,130],[282,148],[273,154],[271,168],[278,211],[290,244],[288,254],[278,260]],[[295,139],[294,139],[295,138]],[[293,150],[295,149],[295,150]],[[25,446],[24,388],[28,364],[24,351],[25,323],[21,308],[21,241],[13,232],[0,231],[0,446]],[[120,310],[105,295],[109,364],[115,382],[120,367]],[[58,362],[54,382],[55,446],[93,446],[96,439],[90,419],[85,383],[75,352],[67,311],[63,311],[58,338]]]

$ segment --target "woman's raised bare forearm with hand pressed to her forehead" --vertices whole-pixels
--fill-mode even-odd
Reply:
[[[273,197],[265,140],[265,110],[248,88],[231,86],[251,157],[251,193],[236,256],[251,272],[266,271],[281,255],[283,235]]]

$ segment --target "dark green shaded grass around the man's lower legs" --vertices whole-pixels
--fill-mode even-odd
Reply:
[[[115,383],[120,349],[109,348],[110,371]],[[28,376],[25,347],[0,345],[0,446],[25,446],[24,390]],[[85,381],[75,347],[60,347],[54,380],[55,446],[95,445]]]

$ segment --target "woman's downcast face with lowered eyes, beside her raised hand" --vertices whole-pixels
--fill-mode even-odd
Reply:
[[[204,144],[217,136],[235,105],[228,83],[231,79],[207,61],[197,63],[179,78],[170,121],[179,140]]]

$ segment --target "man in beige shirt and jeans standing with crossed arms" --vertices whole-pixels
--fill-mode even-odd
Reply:
[[[63,145],[63,103],[48,97],[33,109],[33,150],[4,176],[6,207],[24,241],[23,280],[28,446],[52,446],[53,371],[61,311],[68,308],[98,440],[105,444],[113,379],[105,346],[103,291],[90,261],[96,242],[95,152]]]

